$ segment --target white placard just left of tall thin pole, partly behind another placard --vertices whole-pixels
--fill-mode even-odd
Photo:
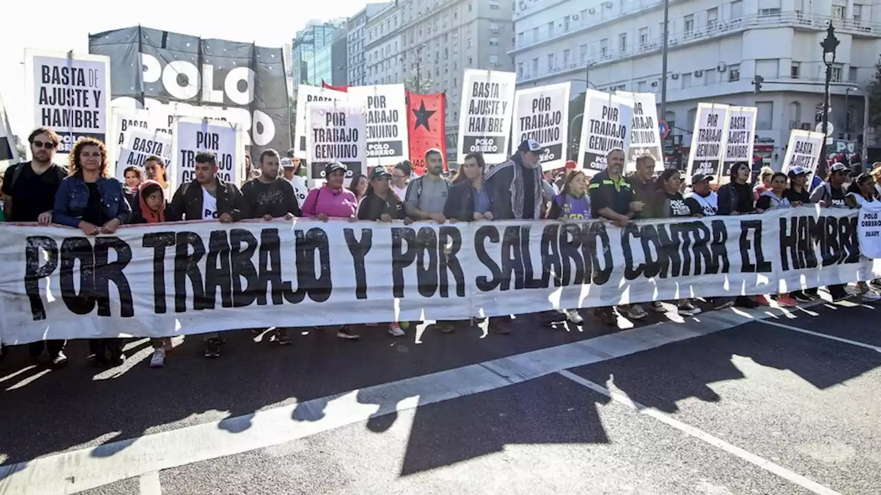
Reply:
[[[636,159],[649,156],[655,159],[655,172],[663,172],[663,148],[658,129],[658,109],[654,92],[616,91],[622,98],[633,100],[633,121],[630,124],[630,147],[624,169],[636,171]]]

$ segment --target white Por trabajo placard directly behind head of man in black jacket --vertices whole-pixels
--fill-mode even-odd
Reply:
[[[217,176],[238,186],[244,181],[241,127],[233,122],[176,117],[172,123],[172,190],[196,178],[196,153],[211,151],[217,159]]]

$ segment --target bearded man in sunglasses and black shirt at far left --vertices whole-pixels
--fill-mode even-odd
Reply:
[[[66,168],[52,163],[61,138],[54,130],[39,127],[33,129],[27,141],[33,159],[10,166],[4,174],[4,214],[9,222],[49,225],[58,185],[68,175]],[[64,344],[63,340],[34,342],[29,347],[31,360],[39,361],[45,348],[49,353],[48,365],[60,368],[67,364]]]

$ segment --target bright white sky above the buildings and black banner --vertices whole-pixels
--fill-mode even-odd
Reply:
[[[8,3],[10,5],[5,5]],[[320,2],[192,2],[152,0],[144,4],[93,0],[85,4],[70,0],[43,0],[38,4],[10,0],[0,7],[0,95],[12,131],[26,137],[25,48],[88,53],[89,33],[101,33],[138,24],[154,29],[203,38],[255,41],[263,47],[290,43],[309,19],[348,17],[364,8],[366,0]],[[292,5],[296,4],[296,7]],[[226,7],[229,5],[233,8]],[[237,11],[235,7],[241,7]],[[247,22],[242,22],[247,19]]]

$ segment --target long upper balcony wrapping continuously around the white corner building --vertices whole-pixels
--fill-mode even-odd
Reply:
[[[836,30],[841,33],[848,33],[854,36],[881,37],[881,24],[858,23],[852,20],[833,19],[829,16],[808,16],[798,11],[788,11],[771,15],[753,14],[742,18],[716,22],[710,26],[703,26],[700,29],[692,29],[691,31],[670,32],[668,33],[667,46],[669,49],[675,49],[697,41],[707,41],[717,37],[742,33],[748,29],[762,27],[794,27],[799,30],[820,32],[825,29],[830,20],[833,22]],[[597,42],[595,41],[591,49],[592,52],[595,51],[593,48],[596,48],[596,44]],[[623,50],[612,48],[603,50],[603,48],[600,48],[598,50],[600,52],[599,55],[592,53],[588,61],[573,62],[568,65],[560,64],[554,67],[545,66],[537,70],[537,72],[524,72],[522,77],[517,78],[517,84],[587,70],[588,63],[591,66],[617,63],[629,58],[660,52],[662,48],[663,39],[660,36],[650,39],[645,43],[630,45]],[[658,69],[660,71],[660,67]]]

